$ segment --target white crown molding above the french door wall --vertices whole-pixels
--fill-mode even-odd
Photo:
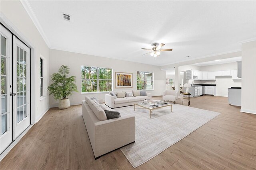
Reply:
[[[46,45],[48,46],[48,48],[50,48],[51,47],[50,41],[46,37],[46,34],[44,33],[44,30],[42,29],[39,21],[37,20],[35,13],[33,12],[30,4],[28,3],[28,0],[21,0],[20,2],[24,7],[24,9],[26,10],[26,12],[28,13],[28,16],[30,16],[31,20],[36,25],[36,28],[38,29],[38,32],[41,34],[42,38],[44,39]]]

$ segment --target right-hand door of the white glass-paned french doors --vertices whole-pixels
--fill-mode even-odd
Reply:
[[[14,36],[14,139],[30,125],[30,49]]]

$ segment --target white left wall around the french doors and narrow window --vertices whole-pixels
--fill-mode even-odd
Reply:
[[[4,18],[3,18],[4,17]],[[35,121],[38,121],[40,117],[49,109],[49,96],[45,92],[46,96],[43,100],[40,101],[40,84],[39,84],[39,59],[40,55],[43,55],[46,59],[47,63],[49,61],[49,48],[46,45],[44,39],[38,32],[38,29],[34,25],[33,21],[31,20],[30,16],[28,16],[26,10],[22,6],[20,1],[1,1],[1,20],[8,20],[8,22],[13,25],[17,32],[22,33],[22,36],[19,37],[20,39],[26,39],[30,42],[27,44],[28,46],[34,47],[31,55],[35,59],[35,92],[32,92],[31,95],[35,96],[36,99],[36,113],[32,111],[31,114],[35,114]],[[32,66],[33,68],[33,66]],[[32,70],[33,72],[33,70]],[[48,86],[49,84],[49,64],[46,67],[46,78],[45,78],[45,85]],[[32,115],[33,117],[33,115]],[[32,120],[33,122],[33,120]]]

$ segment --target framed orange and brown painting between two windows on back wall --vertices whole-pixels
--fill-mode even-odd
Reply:
[[[132,73],[115,72],[116,88],[132,88]]]

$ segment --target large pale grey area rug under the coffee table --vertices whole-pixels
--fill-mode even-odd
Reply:
[[[172,112],[167,109],[154,110],[151,119],[148,109],[134,111],[134,106],[128,106],[114,110],[121,115],[136,117],[136,141],[121,148],[134,168],[154,158],[220,114],[179,104],[172,105]]]

